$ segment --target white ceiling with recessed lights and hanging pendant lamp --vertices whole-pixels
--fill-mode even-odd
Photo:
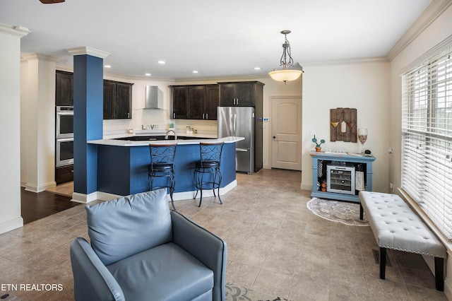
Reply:
[[[23,54],[58,57],[88,46],[124,76],[266,76],[284,35],[299,64],[385,57],[432,0],[1,0],[0,23],[31,33]],[[166,64],[159,64],[163,60]],[[260,67],[260,70],[255,70]],[[192,73],[192,71],[198,73]]]

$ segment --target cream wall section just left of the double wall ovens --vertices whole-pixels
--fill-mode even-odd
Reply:
[[[40,192],[55,187],[55,62],[40,54],[22,56],[20,95],[21,184]]]

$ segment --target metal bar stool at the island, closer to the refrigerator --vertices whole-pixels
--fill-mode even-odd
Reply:
[[[196,196],[198,196],[198,190],[201,192],[201,199],[199,200],[198,207],[201,206],[203,201],[203,189],[212,189],[213,196],[215,195],[215,189],[218,189],[218,200],[220,199],[220,184],[221,184],[221,152],[223,143],[199,143],[199,149],[201,151],[201,160],[196,162],[196,168],[194,172]],[[205,176],[207,176],[205,178]]]

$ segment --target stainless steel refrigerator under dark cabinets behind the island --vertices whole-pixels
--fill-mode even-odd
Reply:
[[[254,107],[218,107],[218,138],[244,137],[236,143],[235,158],[237,172],[254,172],[255,127]]]

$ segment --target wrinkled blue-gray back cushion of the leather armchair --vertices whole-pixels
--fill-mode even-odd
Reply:
[[[166,194],[159,189],[85,207],[91,246],[103,264],[172,241]]]

